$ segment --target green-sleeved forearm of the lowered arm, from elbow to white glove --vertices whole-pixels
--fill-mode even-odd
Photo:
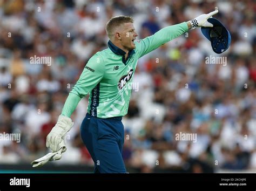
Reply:
[[[64,107],[62,109],[62,115],[70,118],[71,114],[73,113],[73,111],[75,111],[80,100],[81,98],[75,93],[69,93],[69,96],[68,98],[66,98]]]

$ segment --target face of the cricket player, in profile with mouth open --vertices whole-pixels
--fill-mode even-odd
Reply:
[[[126,50],[135,49],[134,39],[138,36],[132,23],[124,23],[120,31],[120,42]]]

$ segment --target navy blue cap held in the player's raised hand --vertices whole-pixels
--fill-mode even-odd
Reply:
[[[208,18],[207,21],[212,23],[213,27],[201,27],[201,31],[211,41],[212,50],[217,54],[223,53],[230,46],[230,32],[218,19]]]

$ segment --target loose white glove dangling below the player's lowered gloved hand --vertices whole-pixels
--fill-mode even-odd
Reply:
[[[40,159],[34,160],[31,162],[32,167],[41,167],[45,165],[48,161],[53,161],[53,160],[59,160],[62,158],[62,153],[64,150],[66,150],[64,141],[60,142],[60,149],[58,152],[54,153],[48,153],[45,156],[41,157]]]

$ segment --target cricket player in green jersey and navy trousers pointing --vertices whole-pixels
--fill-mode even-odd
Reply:
[[[63,140],[73,126],[70,118],[80,99],[88,93],[87,114],[80,127],[81,137],[95,162],[95,173],[126,173],[122,158],[124,126],[133,74],[138,59],[159,46],[196,27],[212,27],[207,19],[218,10],[188,22],[167,26],[142,40],[129,16],[117,16],[106,24],[109,48],[94,54],[65,101],[57,124],[46,138],[46,147],[60,151]],[[61,144],[62,143],[62,144]],[[65,152],[66,149],[62,149]]]

